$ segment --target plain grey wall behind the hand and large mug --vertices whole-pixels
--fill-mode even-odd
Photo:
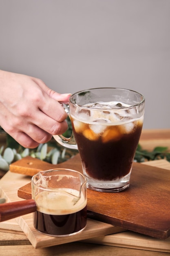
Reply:
[[[170,128],[170,0],[0,0],[0,69],[139,91],[144,128]]]

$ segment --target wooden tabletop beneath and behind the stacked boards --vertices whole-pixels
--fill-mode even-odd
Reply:
[[[168,146],[170,150],[170,129],[143,130],[140,142],[146,150],[156,146]],[[4,173],[0,172],[0,177]],[[74,242],[53,247],[34,249],[25,234],[0,232],[0,255],[6,256],[166,256],[170,253],[154,252],[143,249],[131,249],[91,243]]]

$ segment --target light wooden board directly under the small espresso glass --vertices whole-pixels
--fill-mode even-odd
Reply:
[[[30,182],[31,177],[24,176],[19,173],[11,173],[8,171],[0,180],[1,197],[7,199],[7,202],[15,202],[22,200],[18,198],[17,191],[20,186],[24,186]],[[73,236],[66,236],[62,238],[55,238],[45,236],[36,231],[33,227],[32,213],[18,217],[15,220],[18,222],[22,231],[26,234],[28,239],[34,248],[43,248],[53,245],[60,245],[64,243],[70,243],[87,238],[93,238],[95,236],[101,236],[106,234],[113,234],[115,232],[121,232],[125,229],[114,227],[113,225],[99,222],[97,220],[88,219],[87,227],[79,234]]]

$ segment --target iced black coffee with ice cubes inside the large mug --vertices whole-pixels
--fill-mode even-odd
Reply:
[[[71,115],[88,187],[120,191],[128,187],[143,115],[122,102],[95,102]],[[114,109],[114,110],[113,110]]]

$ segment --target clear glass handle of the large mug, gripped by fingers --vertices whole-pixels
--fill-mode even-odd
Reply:
[[[66,111],[66,113],[68,114],[68,117],[70,118],[70,110],[69,110],[69,104],[67,103],[62,103],[60,102],[60,104],[63,106],[64,110]],[[77,149],[77,143],[75,141],[75,137],[73,135],[73,131],[71,134],[70,138],[66,138],[63,135],[53,135],[53,138],[62,146],[64,146],[65,148],[70,148],[70,149]]]

